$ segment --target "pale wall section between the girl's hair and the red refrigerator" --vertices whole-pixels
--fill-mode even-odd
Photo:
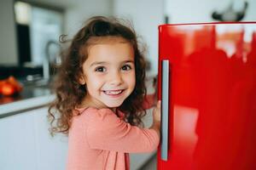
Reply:
[[[148,45],[147,59],[156,75],[158,68],[158,26],[164,21],[164,0],[113,0],[113,14],[133,22],[137,34]]]

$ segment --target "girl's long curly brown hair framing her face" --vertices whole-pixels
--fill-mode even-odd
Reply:
[[[62,53],[61,65],[55,75],[56,98],[49,105],[48,111],[50,133],[68,133],[73,116],[80,114],[76,107],[82,103],[87,92],[84,85],[79,83],[79,77],[83,74],[82,65],[88,57],[88,50],[84,48],[91,45],[89,40],[92,37],[122,37],[131,43],[135,56],[136,85],[130,96],[117,109],[125,113],[125,122],[136,126],[143,125],[141,118],[146,113],[143,101],[147,93],[144,81],[146,62],[143,50],[138,47],[137,35],[132,26],[125,26],[121,21],[124,20],[103,16],[90,18],[73,37],[67,52]],[[76,114],[73,114],[74,111]]]

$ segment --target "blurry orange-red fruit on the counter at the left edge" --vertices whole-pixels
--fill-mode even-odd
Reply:
[[[20,94],[22,88],[23,87],[20,82],[18,82],[13,76],[0,80],[0,94],[3,96]]]

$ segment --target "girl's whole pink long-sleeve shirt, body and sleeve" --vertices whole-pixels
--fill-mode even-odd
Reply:
[[[74,116],[68,136],[67,170],[129,169],[129,154],[150,152],[160,137],[131,126],[109,109],[87,108]]]

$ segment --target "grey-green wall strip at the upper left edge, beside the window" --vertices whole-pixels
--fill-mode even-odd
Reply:
[[[0,2],[0,64],[17,65],[17,44],[13,1]]]

